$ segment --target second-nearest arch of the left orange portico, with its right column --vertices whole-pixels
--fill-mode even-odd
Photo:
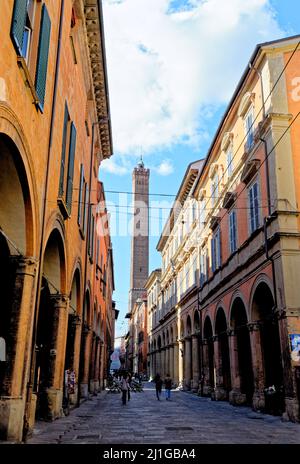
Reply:
[[[38,419],[52,420],[62,414],[69,306],[65,276],[64,241],[58,227],[50,233],[43,257],[34,374]]]

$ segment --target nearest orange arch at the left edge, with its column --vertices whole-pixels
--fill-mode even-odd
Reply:
[[[0,131],[1,116],[0,108]],[[8,119],[5,127],[12,127]],[[0,439],[20,441],[31,361],[36,221],[28,153],[18,134],[12,135],[14,140],[0,132],[0,338],[5,348],[0,361]]]

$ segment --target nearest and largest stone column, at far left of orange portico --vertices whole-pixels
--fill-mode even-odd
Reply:
[[[37,262],[30,257],[12,256],[11,266],[15,280],[12,303],[10,308],[1,308],[10,313],[11,324],[10,339],[6,340],[7,362],[0,396],[0,439],[21,441],[24,412],[25,421],[30,420],[30,408],[25,411],[25,405],[32,356]],[[29,388],[32,389],[32,385]]]

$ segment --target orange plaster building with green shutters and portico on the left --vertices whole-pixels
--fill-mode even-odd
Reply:
[[[101,299],[95,236],[112,136],[101,1],[2,3],[0,438],[21,441],[35,420],[97,393],[106,375],[112,254],[100,244]]]

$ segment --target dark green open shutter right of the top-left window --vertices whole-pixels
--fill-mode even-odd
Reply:
[[[43,5],[41,27],[40,27],[38,59],[37,59],[37,67],[36,67],[36,75],[35,75],[36,93],[38,94],[38,97],[40,99],[40,106],[42,108],[44,107],[45,92],[46,92],[50,30],[51,30],[51,21],[49,18],[47,8],[45,5]]]

